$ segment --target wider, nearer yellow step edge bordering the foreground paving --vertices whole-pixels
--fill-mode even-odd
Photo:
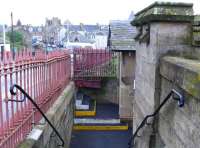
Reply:
[[[128,125],[74,125],[73,130],[81,131],[115,131],[115,130],[128,130]]]

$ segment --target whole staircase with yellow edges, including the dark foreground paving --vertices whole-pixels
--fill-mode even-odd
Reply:
[[[76,98],[70,148],[128,148],[132,130],[119,119],[118,105],[98,104],[84,94]]]

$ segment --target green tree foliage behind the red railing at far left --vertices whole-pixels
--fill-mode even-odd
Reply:
[[[13,42],[14,42],[14,46],[15,46],[15,48],[17,48],[17,50],[20,50],[24,47],[24,40],[23,40],[24,37],[21,32],[13,31],[13,36],[12,36],[12,32],[9,31],[6,33],[6,36],[11,44],[11,47],[13,47]]]

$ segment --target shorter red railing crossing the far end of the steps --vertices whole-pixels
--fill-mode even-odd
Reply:
[[[117,53],[107,49],[75,49],[74,80],[78,87],[100,88],[103,77],[115,77]]]

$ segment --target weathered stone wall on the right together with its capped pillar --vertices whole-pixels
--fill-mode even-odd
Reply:
[[[156,2],[137,13],[132,22],[139,31],[133,132],[172,89],[186,98],[183,108],[172,98],[165,104],[153,119],[153,126],[143,129],[145,132],[153,127],[153,132],[136,139],[137,148],[197,148],[200,145],[200,48],[191,46],[193,39],[196,43],[199,39],[194,34],[199,31],[197,19],[195,16],[193,22],[192,4]],[[149,40],[143,40],[144,32]]]

